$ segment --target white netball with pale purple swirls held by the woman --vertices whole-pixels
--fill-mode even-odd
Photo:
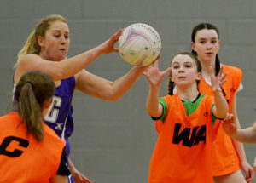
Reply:
[[[132,66],[148,66],[160,54],[160,36],[152,26],[132,24],[119,37],[118,49],[123,60]]]

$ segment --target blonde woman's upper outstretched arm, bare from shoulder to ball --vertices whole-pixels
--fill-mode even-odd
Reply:
[[[26,54],[17,65],[15,83],[19,81],[23,73],[35,70],[44,71],[55,81],[72,77],[84,69],[84,67],[88,66],[93,60],[96,60],[100,55],[118,52],[118,49],[114,48],[114,43],[118,41],[122,31],[122,29],[117,31],[108,41],[100,44],[96,48],[66,60],[44,60],[38,54]]]

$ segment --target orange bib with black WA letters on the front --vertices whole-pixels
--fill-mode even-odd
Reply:
[[[177,94],[163,97],[165,122],[155,122],[159,134],[149,166],[148,183],[212,183],[212,96],[204,96],[189,117]]]

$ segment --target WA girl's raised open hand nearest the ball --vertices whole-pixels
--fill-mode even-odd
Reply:
[[[158,60],[156,60],[154,65],[148,66],[148,69],[144,71],[144,76],[147,77],[150,85],[157,86],[160,85],[166,74],[170,71],[172,71],[171,67],[168,67],[165,71],[159,71]]]

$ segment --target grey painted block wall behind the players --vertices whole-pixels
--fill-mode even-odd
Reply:
[[[190,51],[193,26],[202,21],[218,26],[221,62],[243,71],[244,89],[237,94],[241,127],[251,126],[256,117],[255,9],[254,0],[1,0],[0,114],[11,101],[13,66],[26,38],[42,17],[61,14],[71,31],[69,57],[95,47],[132,23],[153,26],[162,40],[160,70],[169,66],[173,54]],[[130,69],[119,54],[103,55],[86,68],[112,81]],[[154,122],[145,109],[147,94],[148,81],[143,76],[115,102],[74,93],[71,159],[93,182],[147,182],[157,140]],[[166,94],[167,79],[161,89],[161,95]],[[256,145],[245,149],[252,164]]]

